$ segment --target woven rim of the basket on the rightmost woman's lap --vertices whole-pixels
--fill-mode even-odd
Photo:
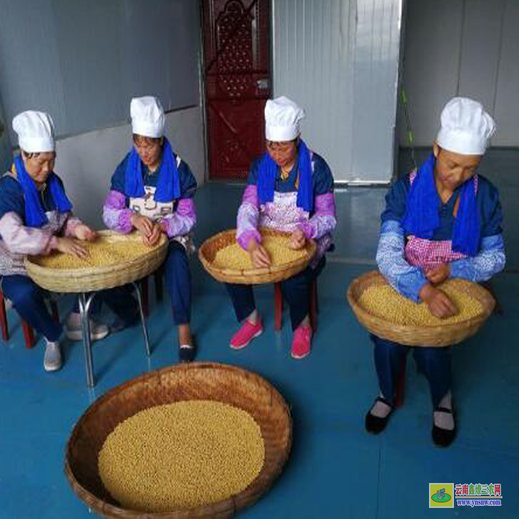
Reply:
[[[491,313],[493,311],[493,307],[495,305],[495,300],[493,299],[492,295],[484,289],[483,286],[480,286],[477,283],[469,282],[467,280],[467,283],[471,283],[471,289],[473,293],[477,293],[480,297],[477,298],[477,300],[482,304],[483,311],[479,313],[477,316],[473,316],[468,319],[464,319],[459,322],[451,322],[446,325],[400,325],[398,323],[391,322],[387,319],[381,318],[379,316],[375,316],[374,314],[368,312],[364,309],[364,307],[358,303],[358,300],[354,297],[354,290],[357,288],[358,284],[361,282],[367,283],[370,280],[374,279],[382,279],[385,281],[385,278],[379,271],[369,271],[359,277],[356,277],[348,286],[347,289],[347,300],[354,310],[354,313],[356,313],[360,318],[363,318],[364,320],[371,320],[374,322],[375,325],[377,325],[380,328],[388,328],[391,327],[392,330],[394,330],[395,333],[410,333],[410,332],[416,332],[423,333],[424,331],[439,331],[441,329],[442,334],[448,334],[448,332],[457,330],[461,326],[464,327],[470,327],[473,325],[477,325],[480,322],[486,320],[491,316]],[[385,281],[387,283],[387,281]]]

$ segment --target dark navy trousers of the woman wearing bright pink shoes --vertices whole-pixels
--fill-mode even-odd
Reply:
[[[281,282],[284,300],[290,308],[292,329],[295,330],[308,315],[310,309],[310,285],[325,268],[326,259],[323,256],[316,268],[306,268],[299,274]],[[236,318],[244,320],[256,309],[253,287],[250,284],[226,283],[230,299],[233,301]]]

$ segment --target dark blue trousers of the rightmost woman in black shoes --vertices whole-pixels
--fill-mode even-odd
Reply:
[[[394,406],[397,381],[403,375],[403,361],[411,348],[374,335],[370,338],[375,345],[375,367],[381,393]],[[452,383],[451,350],[449,347],[415,347],[412,350],[418,369],[428,380],[432,406],[436,408]]]

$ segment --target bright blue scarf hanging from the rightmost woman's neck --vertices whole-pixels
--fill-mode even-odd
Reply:
[[[406,233],[432,239],[439,227],[439,197],[435,185],[435,156],[419,167],[407,199],[401,225]],[[477,211],[475,176],[459,190],[459,207],[453,228],[453,251],[475,256],[480,246],[480,217]]]

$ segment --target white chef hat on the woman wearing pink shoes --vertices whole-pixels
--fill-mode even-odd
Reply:
[[[301,133],[299,121],[304,110],[282,95],[265,104],[265,138],[276,142],[293,140]]]

